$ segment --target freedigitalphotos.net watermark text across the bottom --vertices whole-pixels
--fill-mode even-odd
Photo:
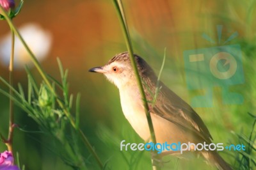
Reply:
[[[158,154],[162,153],[163,151],[177,151],[180,154],[184,153],[184,151],[223,151],[224,149],[226,150],[234,150],[234,151],[245,151],[245,146],[244,144],[230,144],[224,147],[223,143],[171,143],[168,144],[167,142],[165,143],[125,143],[125,140],[121,141],[120,143],[120,151],[157,151]]]

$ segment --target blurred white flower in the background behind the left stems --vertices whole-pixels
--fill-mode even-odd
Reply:
[[[38,24],[29,23],[20,27],[19,32],[38,61],[42,61],[51,49],[52,36],[49,31],[45,31]],[[9,66],[10,62],[11,39],[11,33],[0,39],[0,62],[5,66]],[[19,38],[15,36],[14,68],[24,68],[24,65],[31,66],[31,63],[28,52]]]

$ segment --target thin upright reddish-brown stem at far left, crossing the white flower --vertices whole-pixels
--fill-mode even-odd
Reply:
[[[13,30],[11,28],[11,35],[12,35],[12,45],[11,45],[11,54],[10,54],[10,66],[9,66],[9,84],[10,86],[13,86],[13,60],[14,60],[14,41],[15,36],[13,33]],[[10,96],[13,96],[12,88],[9,89]],[[8,133],[8,139],[7,139],[7,148],[8,151],[11,151],[13,153],[13,128],[14,128],[14,114],[13,114],[13,101],[12,98],[10,98],[10,112],[9,112],[9,133]],[[14,158],[14,157],[13,157]]]

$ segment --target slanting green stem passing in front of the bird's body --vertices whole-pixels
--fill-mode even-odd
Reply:
[[[155,135],[155,132],[154,132],[152,118],[150,116],[150,109],[148,107],[147,98],[146,98],[146,95],[145,95],[145,92],[144,92],[144,89],[143,89],[143,86],[142,86],[142,82],[141,82],[140,74],[138,72],[136,61],[134,59],[131,38],[129,36],[129,29],[127,27],[127,22],[126,22],[126,19],[125,19],[125,12],[124,12],[124,8],[122,6],[122,1],[121,0],[113,0],[113,3],[115,4],[115,8],[116,8],[116,11],[118,13],[118,18],[120,19],[120,22],[121,22],[121,25],[122,25],[122,30],[123,30],[123,33],[124,33],[124,36],[125,36],[125,42],[126,42],[127,49],[128,49],[129,56],[130,56],[130,60],[131,60],[131,63],[132,63],[132,68],[134,70],[134,74],[136,75],[138,88],[140,89],[141,100],[142,100],[143,106],[145,108],[145,114],[147,116],[148,127],[149,127],[149,130],[150,130],[151,141],[153,143],[156,143],[156,135]],[[156,153],[156,151],[154,153]],[[153,166],[153,169],[158,169],[158,167]]]

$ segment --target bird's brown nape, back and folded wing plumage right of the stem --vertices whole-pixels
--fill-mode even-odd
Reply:
[[[152,101],[153,97],[150,93],[155,93],[156,91],[154,89],[157,84],[156,74],[139,56],[136,56],[136,62],[141,73],[140,76],[145,86],[147,86],[147,88],[144,86],[147,100]],[[160,82],[159,85],[161,90],[158,93],[159,96],[154,107],[151,108],[151,112],[194,134],[195,137],[199,137],[202,141],[211,143],[211,134],[200,116],[182,98],[167,88],[163,82]]]

